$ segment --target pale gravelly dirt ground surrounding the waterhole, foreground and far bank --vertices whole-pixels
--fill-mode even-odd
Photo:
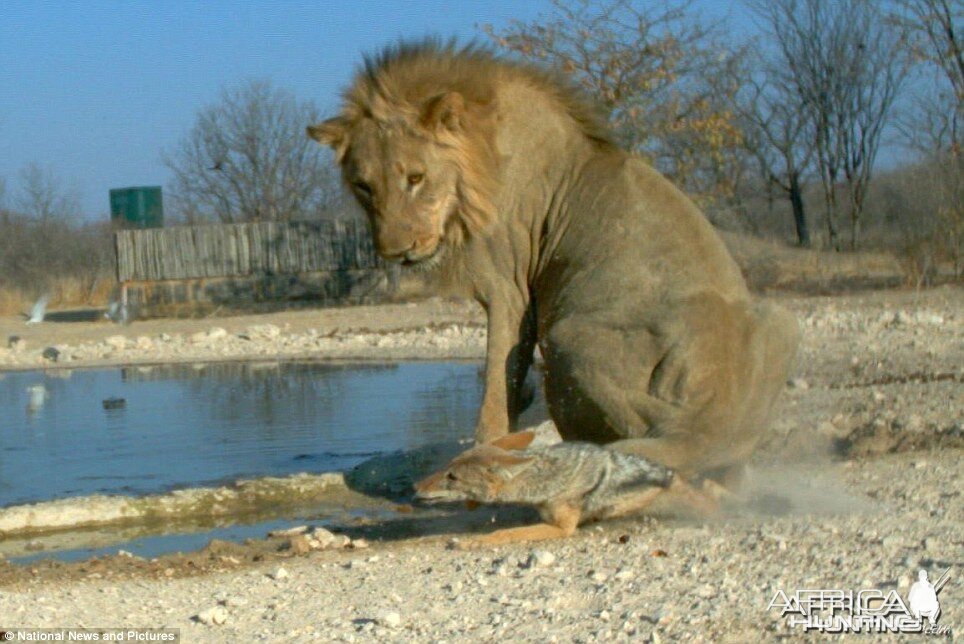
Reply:
[[[461,551],[453,536],[526,515],[399,507],[392,520],[334,528],[365,549],[296,554],[269,539],[151,561],[0,562],[0,630],[166,627],[192,642],[772,641],[804,635],[768,610],[780,590],[906,598],[919,569],[932,580],[950,569],[939,624],[953,638],[964,628],[964,288],[779,299],[800,319],[803,346],[746,499],[720,518],[604,522],[562,542]],[[73,355],[84,344],[89,355],[46,366],[377,359],[400,346],[410,357],[481,355],[483,322],[477,308],[438,299],[123,328],[4,319],[0,333],[27,346],[0,365],[37,368],[43,347]],[[117,335],[127,341],[108,342]]]

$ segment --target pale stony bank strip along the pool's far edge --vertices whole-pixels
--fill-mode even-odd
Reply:
[[[485,355],[477,305],[418,303],[112,324],[88,311],[27,325],[0,318],[0,370],[284,359],[439,359]],[[58,322],[57,319],[93,318]]]

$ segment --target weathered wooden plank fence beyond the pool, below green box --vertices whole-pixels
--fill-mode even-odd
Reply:
[[[259,222],[121,230],[117,280],[140,315],[191,304],[278,299],[376,301],[398,268],[375,253],[364,222]]]

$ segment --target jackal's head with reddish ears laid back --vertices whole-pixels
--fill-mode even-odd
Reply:
[[[513,453],[532,439],[528,432],[509,434],[462,452],[443,470],[416,483],[415,496],[424,501],[500,501],[506,485],[532,464],[534,457]]]

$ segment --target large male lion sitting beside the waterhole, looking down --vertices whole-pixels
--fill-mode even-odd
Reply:
[[[515,429],[536,344],[566,440],[738,476],[796,352],[697,207],[561,78],[486,48],[366,58],[331,146],[376,249],[486,310],[476,439]]]

